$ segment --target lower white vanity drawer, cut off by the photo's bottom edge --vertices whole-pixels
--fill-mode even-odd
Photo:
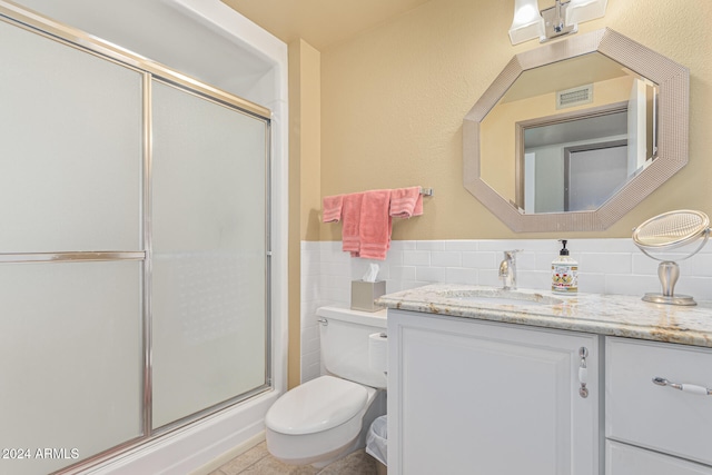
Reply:
[[[607,441],[605,475],[712,475],[712,468]]]

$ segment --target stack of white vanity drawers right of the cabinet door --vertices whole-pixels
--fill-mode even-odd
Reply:
[[[605,360],[606,475],[712,475],[712,349],[607,337]]]

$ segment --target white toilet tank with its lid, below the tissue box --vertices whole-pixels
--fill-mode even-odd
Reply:
[[[316,315],[326,370],[344,379],[385,388],[385,373],[372,369],[368,364],[368,335],[386,331],[386,309],[370,313],[320,307]]]

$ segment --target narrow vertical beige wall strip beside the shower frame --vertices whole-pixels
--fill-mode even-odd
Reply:
[[[289,367],[288,387],[300,372],[300,241],[318,238],[320,208],[320,55],[303,40],[289,44]],[[315,178],[317,177],[317,178]]]

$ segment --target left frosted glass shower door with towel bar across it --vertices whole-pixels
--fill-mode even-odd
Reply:
[[[50,473],[145,434],[142,73],[4,21],[0,65],[0,473]]]

